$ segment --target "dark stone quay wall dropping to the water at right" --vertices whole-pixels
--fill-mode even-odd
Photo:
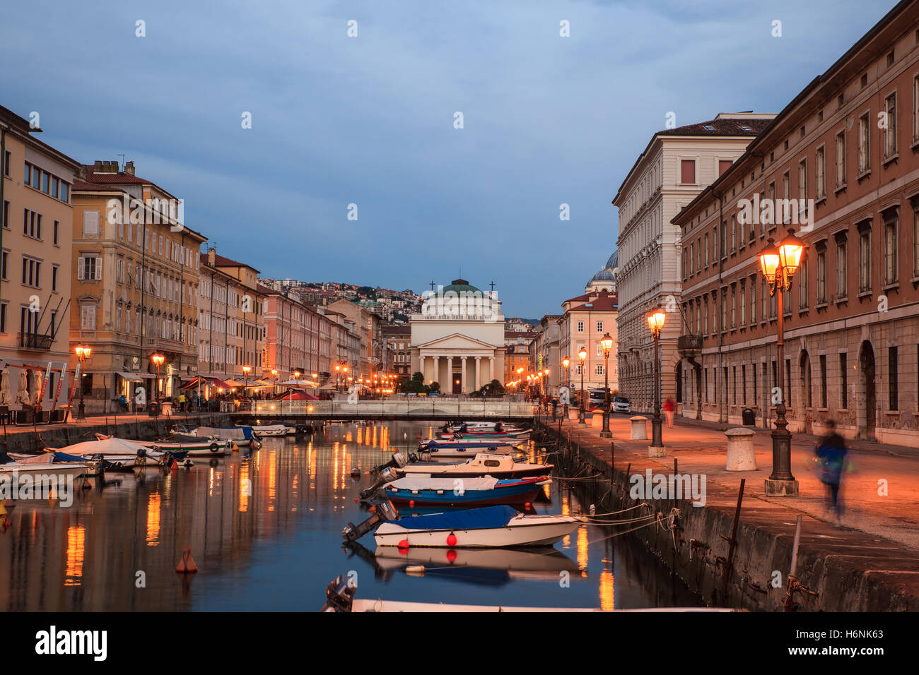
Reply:
[[[567,470],[594,470],[602,478],[573,484],[586,503],[595,503],[597,512],[611,512],[641,502],[652,506],[665,518],[672,508],[679,509],[679,526],[672,534],[653,524],[634,533],[659,557],[689,591],[712,605],[732,606],[754,611],[781,612],[788,591],[791,550],[796,516],[800,513],[774,501],[762,501],[749,491],[737,528],[732,573],[726,594],[723,590],[724,562],[732,532],[737,489],[725,489],[709,482],[705,506],[687,500],[632,500],[626,467],[630,474],[643,474],[646,468],[660,473],[660,464],[630,452],[623,443],[616,445],[616,467],[610,466],[609,442],[603,439],[586,444],[572,437],[571,430],[543,420],[534,421],[542,440],[557,444],[559,461]],[[621,452],[621,455],[620,455]],[[737,480],[738,487],[740,478]],[[749,485],[748,485],[749,489]],[[816,596],[798,592],[797,611],[891,612],[919,611],[919,552],[882,537],[840,529],[805,516],[801,531],[797,578]],[[780,586],[773,585],[780,579]]]

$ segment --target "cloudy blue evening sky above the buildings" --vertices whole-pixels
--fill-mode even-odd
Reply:
[[[124,155],[262,276],[461,275],[539,318],[616,248],[668,112],[778,112],[893,5],[30,0],[0,6],[0,105],[79,162]]]

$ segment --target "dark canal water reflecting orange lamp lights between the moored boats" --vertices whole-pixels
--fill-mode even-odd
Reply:
[[[314,611],[341,574],[357,579],[358,598],[605,609],[700,603],[640,542],[610,536],[621,527],[583,525],[554,551],[375,555],[372,533],[344,549],[342,527],[368,516],[355,502],[371,482],[368,470],[435,432],[414,422],[329,424],[312,439],[267,438],[251,454],[165,474],[108,474],[104,488],[80,491],[69,507],[7,504],[0,610]],[[351,478],[352,467],[360,478]],[[569,485],[553,481],[536,510],[585,512]],[[197,574],[176,574],[185,546]],[[413,564],[428,571],[407,574]]]

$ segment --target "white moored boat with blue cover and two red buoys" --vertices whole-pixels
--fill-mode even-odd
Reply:
[[[510,506],[403,516],[381,523],[377,546],[494,548],[551,546],[586,523],[583,516],[527,515]]]

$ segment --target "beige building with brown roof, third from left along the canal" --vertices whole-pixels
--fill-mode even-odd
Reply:
[[[255,381],[265,354],[266,296],[258,270],[213,247],[199,259],[199,373],[206,380]]]

